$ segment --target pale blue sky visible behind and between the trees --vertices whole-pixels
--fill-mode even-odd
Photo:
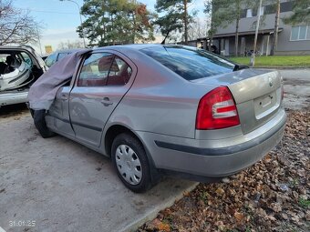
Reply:
[[[78,5],[83,5],[83,0],[75,1]],[[156,0],[140,0],[140,2],[146,4],[150,10],[154,10]],[[22,10],[29,10],[30,15],[43,25],[41,38],[43,53],[45,45],[52,45],[53,50],[57,50],[60,42],[79,39],[76,33],[76,28],[80,25],[78,5],[59,0],[14,0],[13,4]],[[202,7],[203,0],[194,0],[190,10],[202,9]],[[35,45],[35,47],[37,52],[40,52],[39,46]]]

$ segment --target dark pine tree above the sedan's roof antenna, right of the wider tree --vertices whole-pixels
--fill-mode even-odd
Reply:
[[[189,24],[192,15],[188,12],[188,6],[192,0],[157,0],[155,9],[158,13],[166,13],[160,16],[155,24],[160,26],[161,35],[164,36],[162,43],[174,31],[183,32],[184,43],[188,44]]]

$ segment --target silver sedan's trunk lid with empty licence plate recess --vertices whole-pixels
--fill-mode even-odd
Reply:
[[[282,102],[282,78],[277,71],[243,69],[192,82],[228,86],[235,100],[243,134],[269,121]]]

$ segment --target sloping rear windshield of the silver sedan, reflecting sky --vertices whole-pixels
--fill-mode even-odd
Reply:
[[[233,72],[233,63],[202,49],[184,46],[157,46],[141,52],[170,68],[186,80]]]

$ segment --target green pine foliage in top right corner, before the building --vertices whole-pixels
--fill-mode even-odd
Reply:
[[[293,15],[284,18],[284,23],[288,25],[310,24],[310,1],[294,1]]]

